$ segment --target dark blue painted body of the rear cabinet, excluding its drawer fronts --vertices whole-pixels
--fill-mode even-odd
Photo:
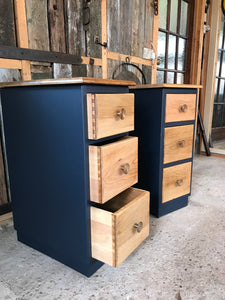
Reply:
[[[165,123],[166,94],[196,94],[196,89],[150,88],[130,90],[135,94],[135,131],[139,138],[139,181],[137,187],[150,191],[150,212],[161,217],[188,203],[188,195],[162,203],[163,168],[192,161],[190,159],[163,164],[164,128],[194,124],[194,121]]]

